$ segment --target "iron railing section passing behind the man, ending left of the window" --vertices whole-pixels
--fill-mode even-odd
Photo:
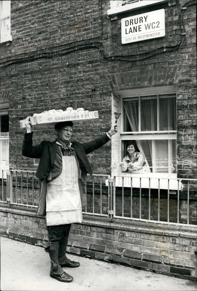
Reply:
[[[12,205],[38,208],[41,183],[35,171],[1,170],[0,202]],[[109,175],[88,175],[85,181],[86,205],[84,214],[108,217],[109,188],[105,181]],[[104,189],[105,188],[105,189]],[[88,189],[88,191],[87,191]]]

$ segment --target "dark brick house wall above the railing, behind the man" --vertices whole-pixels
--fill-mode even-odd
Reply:
[[[19,127],[19,120],[35,111],[67,106],[98,110],[99,120],[76,126],[74,138],[90,140],[109,130],[111,91],[177,85],[178,177],[196,178],[195,6],[184,11],[186,39],[181,47],[135,61],[150,49],[180,42],[180,12],[187,2],[169,1],[154,7],[165,9],[164,38],[122,45],[120,19],[127,14],[117,20],[107,18],[110,1],[11,1],[13,41],[1,45],[1,61],[44,53],[47,57],[11,64],[1,71],[1,101],[10,103],[10,168],[35,168],[32,159],[21,155],[23,130]],[[94,47],[80,50],[92,42]],[[70,52],[68,47],[73,46],[77,49]],[[131,54],[132,62],[106,60],[101,48],[106,56]],[[62,49],[61,55],[55,55]],[[34,143],[52,140],[54,134],[52,127],[35,128]],[[110,142],[89,159],[94,173],[110,173]]]

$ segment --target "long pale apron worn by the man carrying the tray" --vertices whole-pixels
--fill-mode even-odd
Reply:
[[[78,177],[74,155],[62,156],[62,173],[47,182],[47,226],[82,222]]]

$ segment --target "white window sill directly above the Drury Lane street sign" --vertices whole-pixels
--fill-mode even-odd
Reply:
[[[163,3],[163,2],[167,2],[168,0],[143,0],[143,1],[139,1],[139,2],[136,2],[136,3],[130,3],[130,4],[125,4],[123,6],[119,6],[119,7],[111,7],[110,9],[107,10],[107,16],[110,17],[110,16],[114,16],[114,15],[117,15],[119,13],[124,13],[124,12],[129,12],[131,10],[136,10],[136,9],[140,9],[140,8],[144,8],[144,7],[147,7],[147,6],[151,6],[151,5],[154,5],[154,4],[160,4],[160,3]]]

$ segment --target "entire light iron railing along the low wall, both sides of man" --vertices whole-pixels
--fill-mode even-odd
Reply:
[[[40,181],[35,171],[1,170],[1,177],[1,203],[38,207]],[[145,183],[142,177],[128,176],[130,184],[125,184],[124,179],[125,175],[88,175],[87,203],[82,212],[109,217],[111,221],[117,218],[196,226],[196,179],[149,177]],[[172,191],[172,186],[176,190]]]

